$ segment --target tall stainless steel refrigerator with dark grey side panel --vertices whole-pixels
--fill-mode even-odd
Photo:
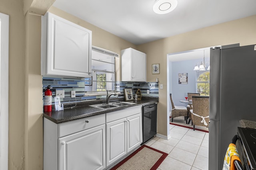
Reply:
[[[209,170],[222,170],[241,119],[256,121],[256,45],[210,49]]]

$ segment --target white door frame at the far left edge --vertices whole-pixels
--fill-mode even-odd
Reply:
[[[8,170],[9,16],[0,13],[0,170]]]

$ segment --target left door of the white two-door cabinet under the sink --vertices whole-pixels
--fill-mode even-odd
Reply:
[[[106,124],[107,166],[124,156],[127,152],[126,118]]]

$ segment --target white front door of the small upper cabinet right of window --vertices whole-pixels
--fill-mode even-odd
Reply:
[[[132,49],[132,81],[146,82],[146,54]]]

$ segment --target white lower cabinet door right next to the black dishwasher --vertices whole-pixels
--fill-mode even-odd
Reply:
[[[127,152],[130,152],[142,142],[142,118],[141,114],[127,117]]]

